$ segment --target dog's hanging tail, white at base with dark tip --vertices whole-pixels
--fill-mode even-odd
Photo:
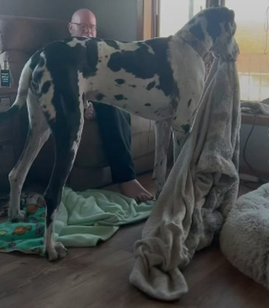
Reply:
[[[35,67],[34,62],[36,58],[37,55],[35,54],[24,65],[19,79],[17,97],[13,105],[8,110],[0,112],[0,123],[16,115],[23,107],[23,105],[25,105],[26,98],[28,95],[28,90],[32,79],[33,68]]]

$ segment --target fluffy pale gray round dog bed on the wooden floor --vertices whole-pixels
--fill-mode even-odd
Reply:
[[[238,198],[220,245],[232,265],[269,289],[269,184]]]

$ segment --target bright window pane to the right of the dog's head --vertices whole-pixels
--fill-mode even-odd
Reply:
[[[269,0],[226,0],[226,6],[234,10],[237,24],[235,39],[240,48],[237,67],[241,99],[269,98]]]

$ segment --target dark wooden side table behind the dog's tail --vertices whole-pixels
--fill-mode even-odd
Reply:
[[[0,87],[0,111],[7,110],[15,101],[17,88]],[[9,191],[8,174],[18,159],[19,120],[14,116],[0,123],[0,195]]]

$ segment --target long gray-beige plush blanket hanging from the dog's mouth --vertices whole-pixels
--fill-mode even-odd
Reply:
[[[129,280],[149,296],[188,291],[181,270],[218,235],[237,199],[239,128],[236,65],[215,60],[193,130],[134,245]]]

